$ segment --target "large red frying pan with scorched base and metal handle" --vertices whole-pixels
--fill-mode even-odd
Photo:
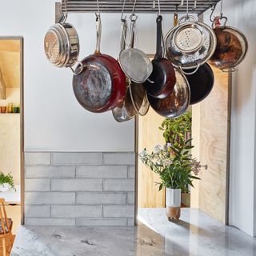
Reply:
[[[126,77],[114,58],[100,53],[102,26],[100,15],[96,16],[96,50],[77,66],[73,90],[78,102],[86,110],[100,113],[112,110],[122,102],[126,94]]]

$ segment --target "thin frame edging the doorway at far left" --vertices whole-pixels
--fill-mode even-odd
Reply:
[[[24,39],[21,36],[0,36],[0,40],[18,40],[20,51],[20,133],[21,133],[21,224],[24,224]]]

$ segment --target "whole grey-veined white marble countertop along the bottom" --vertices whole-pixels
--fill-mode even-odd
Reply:
[[[178,223],[139,209],[139,226],[21,226],[12,256],[253,256],[256,238],[195,209]]]

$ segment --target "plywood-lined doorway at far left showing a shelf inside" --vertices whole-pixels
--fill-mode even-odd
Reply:
[[[0,37],[0,172],[14,179],[14,189],[0,192],[5,198],[13,233],[23,224],[23,38]]]

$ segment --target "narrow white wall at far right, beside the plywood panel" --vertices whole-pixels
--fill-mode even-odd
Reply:
[[[246,35],[249,50],[234,73],[231,112],[230,225],[256,235],[255,114],[256,114],[256,2],[223,1],[228,26]],[[209,16],[205,15],[205,20]]]

